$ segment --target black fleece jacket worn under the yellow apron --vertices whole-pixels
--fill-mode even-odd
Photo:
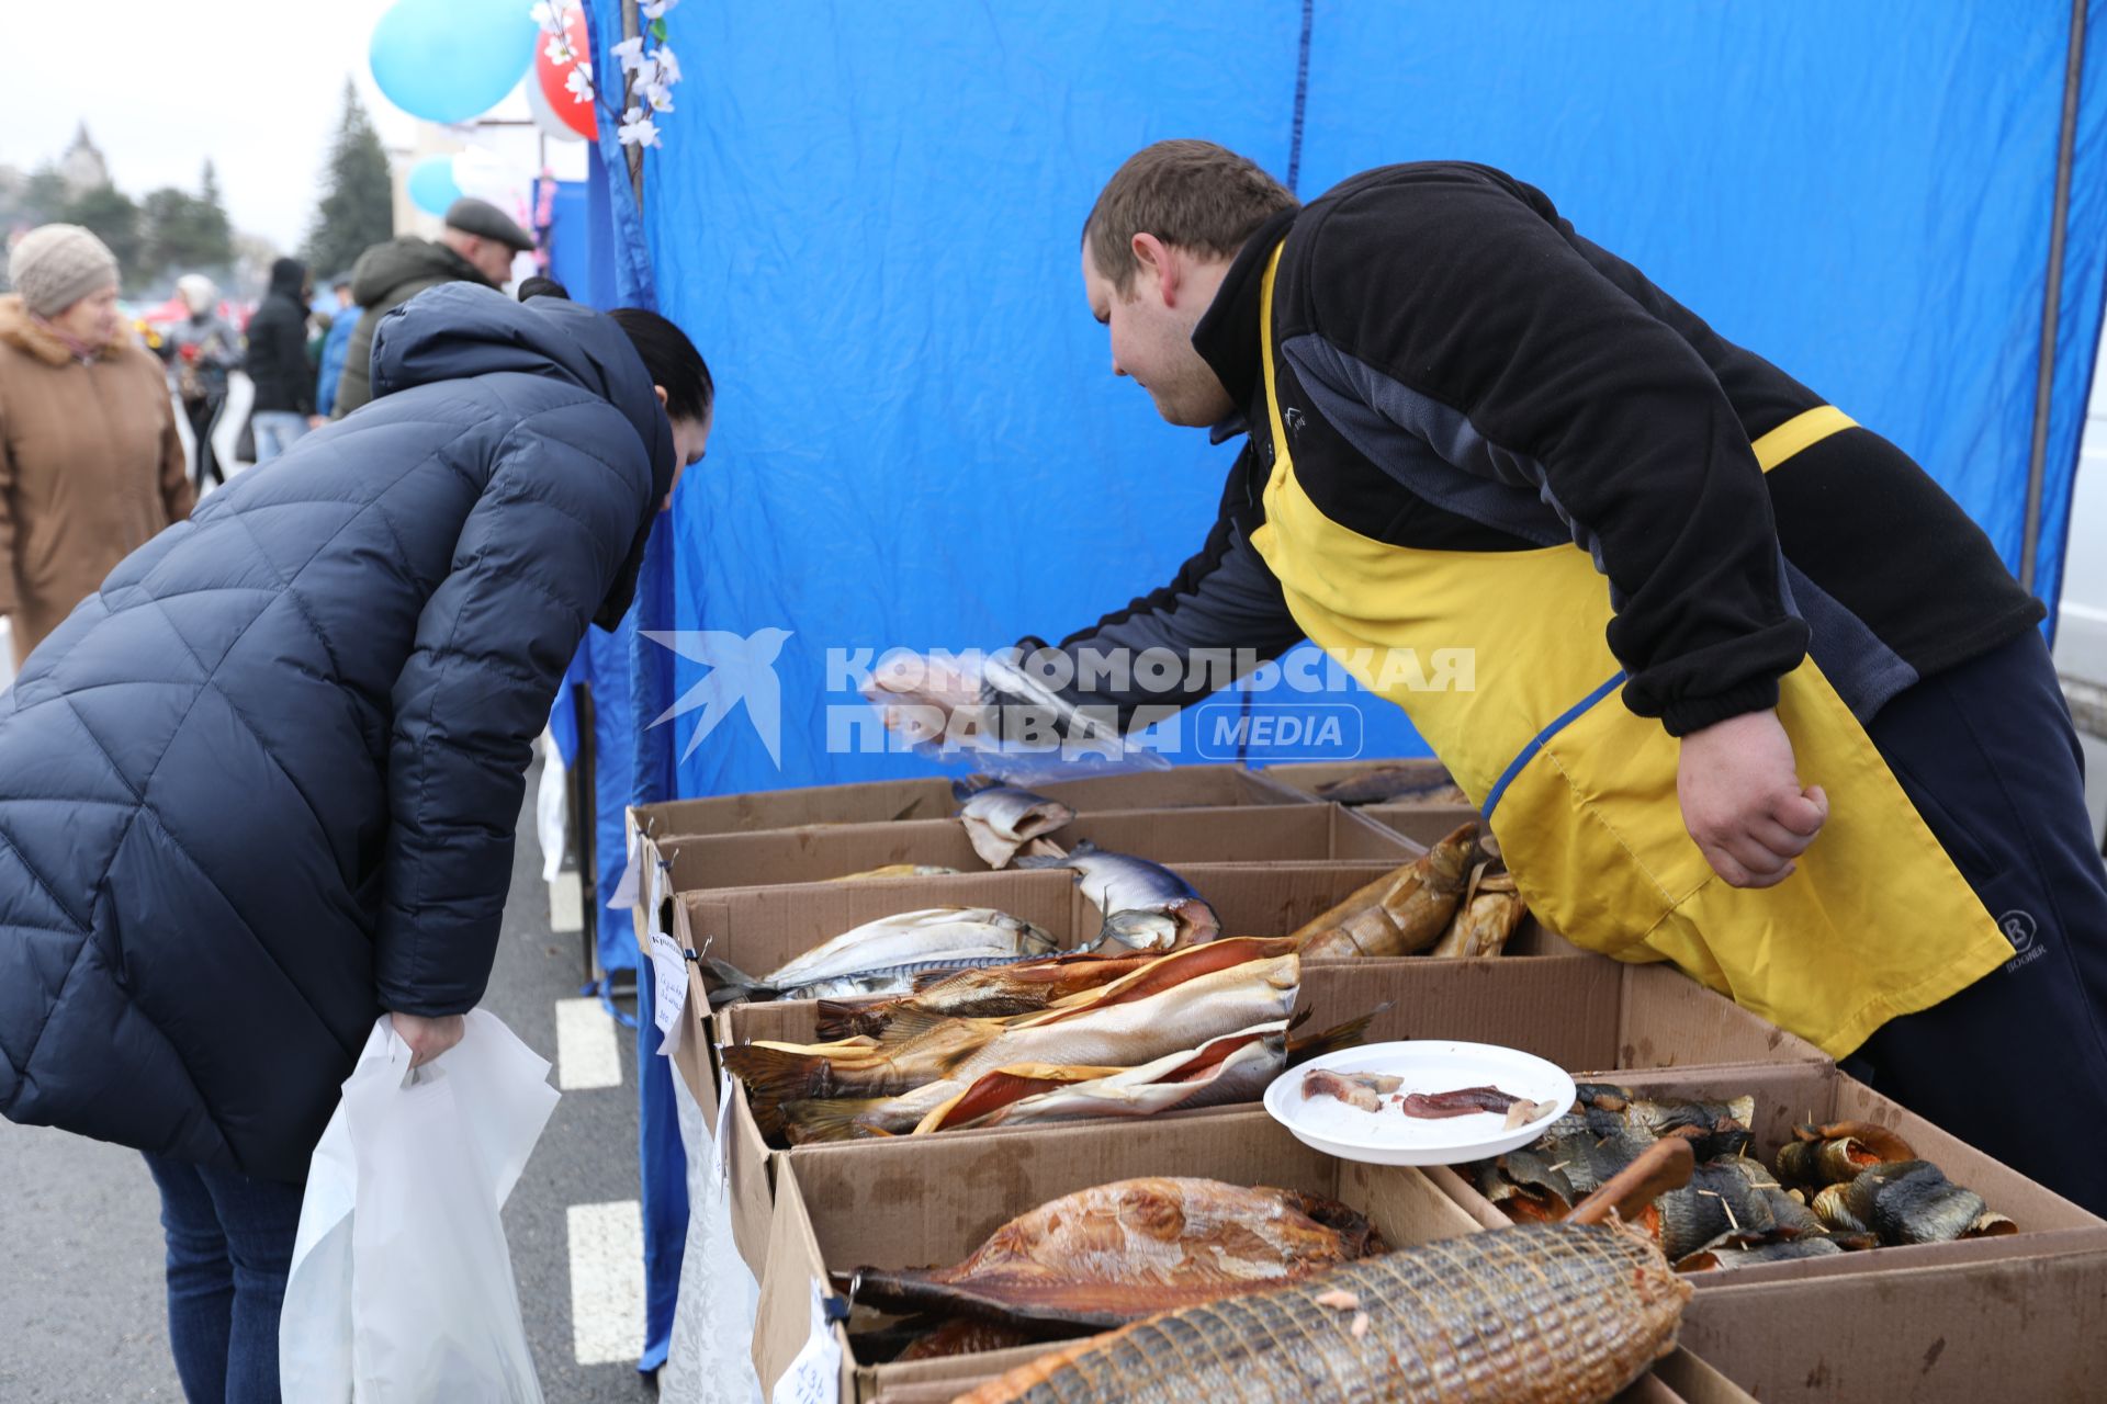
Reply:
[[[1260,482],[1260,280],[1283,240],[1273,339],[1304,493],[1393,545],[1576,541],[1606,575],[1624,705],[1671,735],[1776,705],[1810,650],[1869,720],[2042,619],[1983,530],[1871,429],[1764,474],[1749,444],[1823,398],[1488,166],[1367,171],[1245,244],[1193,341],[1245,406]],[[1256,562],[1256,514],[1235,497],[1214,539],[1230,549],[1062,646],[1169,623],[1165,604],[1205,621],[1209,566],[1247,577]],[[1252,598],[1247,579],[1237,594]]]

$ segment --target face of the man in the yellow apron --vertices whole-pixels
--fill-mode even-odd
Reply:
[[[1131,377],[1169,423],[1207,427],[1237,408],[1214,366],[1195,349],[1193,328],[1207,312],[1212,290],[1195,286],[1178,250],[1157,246],[1159,263],[1144,261],[1125,295],[1098,272],[1083,244],[1083,295],[1089,316],[1112,333],[1112,375]]]

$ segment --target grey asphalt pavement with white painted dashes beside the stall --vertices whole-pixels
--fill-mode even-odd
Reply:
[[[632,1238],[636,1036],[626,1027],[609,1036],[598,1002],[579,1000],[579,937],[552,930],[541,882],[535,781],[537,770],[527,777],[512,899],[483,1006],[558,1063],[552,1078],[571,1086],[506,1204],[506,1238],[546,1398],[653,1400],[634,1368],[643,1345]],[[600,1086],[582,1086],[592,1082]],[[137,1154],[0,1120],[0,1400],[183,1398],[169,1358],[158,1212]]]

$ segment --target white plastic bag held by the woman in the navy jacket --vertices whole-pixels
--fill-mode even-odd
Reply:
[[[278,1318],[287,1400],[539,1404],[497,1210],[556,1088],[501,1019],[409,1067],[383,1015],[308,1170]]]

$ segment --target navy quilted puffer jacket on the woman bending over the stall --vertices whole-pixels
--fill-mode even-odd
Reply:
[[[672,429],[611,320],[468,284],[379,398],[126,558],[0,697],[0,1111],[297,1181],[379,1012],[489,979],[533,737]]]

